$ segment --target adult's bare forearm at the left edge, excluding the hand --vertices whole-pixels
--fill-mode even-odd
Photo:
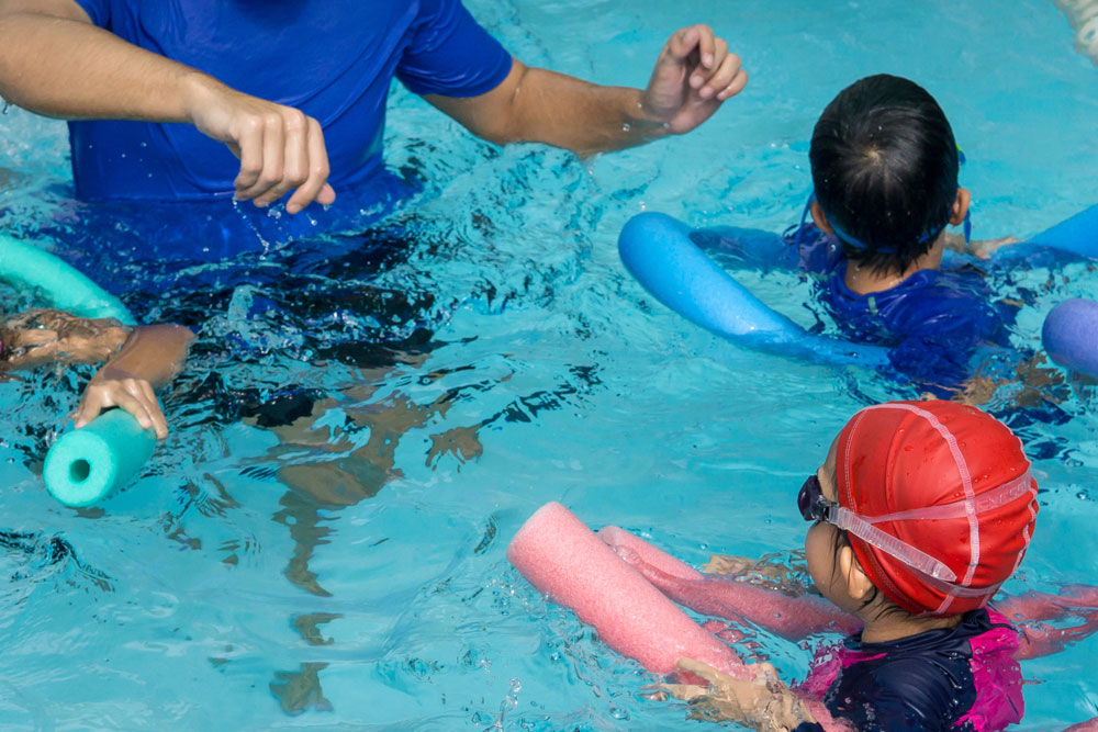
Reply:
[[[89,23],[0,15],[0,95],[38,114],[187,122],[200,81],[213,80]]]

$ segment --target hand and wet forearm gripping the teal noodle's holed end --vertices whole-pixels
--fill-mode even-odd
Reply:
[[[122,350],[100,369],[80,398],[74,419],[83,427],[110,407],[121,407],[158,439],[168,436],[168,423],[155,391],[179,372],[187,349],[194,339],[179,325],[138,326]]]

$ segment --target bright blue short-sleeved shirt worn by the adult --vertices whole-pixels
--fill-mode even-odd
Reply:
[[[394,76],[417,94],[475,97],[511,70],[459,0],[76,2],[124,41],[315,117],[337,191],[383,170]],[[69,139],[81,199],[231,196],[239,170],[225,145],[186,124],[70,122]]]

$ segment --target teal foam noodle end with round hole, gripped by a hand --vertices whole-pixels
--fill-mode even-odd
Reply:
[[[153,454],[156,433],[111,409],[61,436],[46,453],[42,477],[66,506],[90,506],[133,480]]]

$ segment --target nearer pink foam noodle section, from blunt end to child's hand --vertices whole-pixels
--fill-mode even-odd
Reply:
[[[507,559],[538,590],[594,626],[600,640],[648,671],[669,674],[677,658],[688,656],[751,678],[731,649],[558,503],[546,504],[527,519],[507,547]]]

